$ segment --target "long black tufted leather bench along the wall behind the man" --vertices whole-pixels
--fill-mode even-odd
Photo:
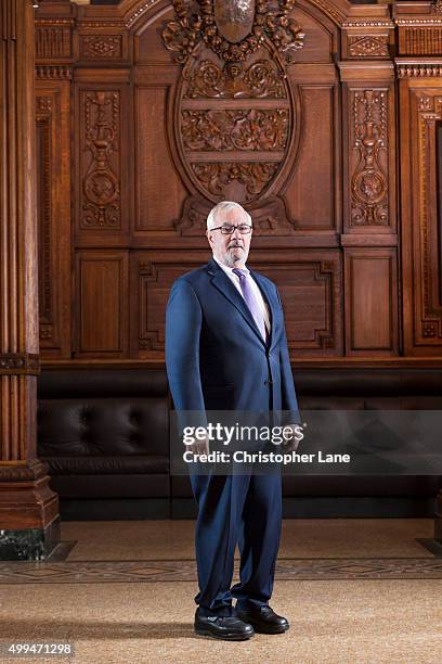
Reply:
[[[296,369],[301,410],[442,409],[439,369]],[[62,516],[192,516],[187,477],[169,476],[164,369],[43,370],[38,456]],[[286,516],[427,515],[439,476],[298,475],[283,481]],[[81,506],[84,507],[81,510]]]

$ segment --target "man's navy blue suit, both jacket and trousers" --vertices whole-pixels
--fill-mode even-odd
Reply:
[[[275,284],[251,271],[271,318],[269,344],[214,261],[178,279],[166,312],[166,366],[180,410],[289,410],[299,422],[283,309]],[[281,535],[281,476],[194,475],[199,592],[207,615],[268,603]],[[240,582],[230,588],[236,544]]]

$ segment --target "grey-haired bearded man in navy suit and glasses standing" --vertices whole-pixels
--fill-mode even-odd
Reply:
[[[288,410],[295,425],[299,413],[280,295],[272,281],[246,268],[251,217],[237,203],[218,203],[206,234],[212,259],[174,282],[167,306],[166,366],[176,410]],[[202,448],[208,450],[207,442]],[[226,640],[286,631],[287,618],[269,606],[281,475],[191,473],[191,483],[198,503],[195,631]],[[240,582],[231,588],[236,544]]]

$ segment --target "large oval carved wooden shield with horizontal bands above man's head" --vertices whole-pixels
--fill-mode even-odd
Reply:
[[[296,157],[291,94],[281,64],[266,49],[246,67],[227,63],[224,69],[207,54],[203,49],[187,63],[176,99],[181,163],[195,192],[208,200],[196,207],[221,199],[256,204],[275,189],[287,157]],[[265,99],[264,108],[260,99]],[[229,153],[227,161],[222,153]],[[289,232],[285,214],[278,220]],[[193,232],[184,216],[178,228]]]

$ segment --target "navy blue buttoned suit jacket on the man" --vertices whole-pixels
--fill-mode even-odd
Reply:
[[[166,367],[176,410],[289,410],[299,422],[275,284],[251,271],[271,315],[269,345],[220,266],[180,277],[166,311]]]

